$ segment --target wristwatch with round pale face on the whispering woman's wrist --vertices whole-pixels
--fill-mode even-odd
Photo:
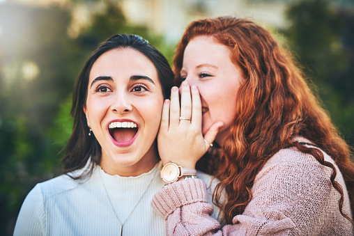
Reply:
[[[182,176],[197,175],[197,170],[195,168],[183,168],[173,162],[169,162],[162,167],[160,174],[164,182],[171,184],[176,182],[178,178],[181,178]]]

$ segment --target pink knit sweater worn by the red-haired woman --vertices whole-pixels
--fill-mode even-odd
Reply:
[[[256,175],[252,200],[243,214],[233,217],[232,225],[222,226],[210,217],[213,207],[199,179],[169,184],[155,194],[151,205],[166,220],[167,235],[353,235],[353,226],[339,212],[331,172],[296,148],[280,150]],[[344,191],[343,211],[351,217],[338,168],[336,180]]]

